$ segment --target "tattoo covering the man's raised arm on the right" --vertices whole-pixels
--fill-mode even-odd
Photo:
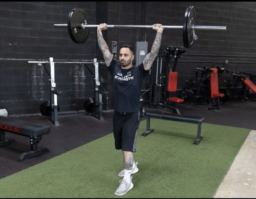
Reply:
[[[155,36],[155,40],[151,48],[151,52],[148,53],[145,59],[143,60],[145,70],[149,70],[151,68],[155,58],[157,57],[158,51],[161,46],[162,33],[163,32],[157,32],[157,35]]]

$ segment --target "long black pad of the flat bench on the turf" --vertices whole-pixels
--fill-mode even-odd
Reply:
[[[198,122],[204,121],[203,117],[178,115],[178,114],[165,113],[165,112],[146,112],[145,116],[159,118],[159,119],[173,120],[173,121],[191,122],[191,123],[198,123]]]

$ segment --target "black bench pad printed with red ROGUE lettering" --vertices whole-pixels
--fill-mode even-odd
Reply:
[[[37,137],[50,133],[50,126],[0,116],[0,130],[27,137]]]

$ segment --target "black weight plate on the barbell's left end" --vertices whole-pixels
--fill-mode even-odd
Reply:
[[[80,24],[88,25],[86,12],[81,8],[74,8],[68,15],[68,33],[75,43],[82,44],[86,42],[89,36],[89,28],[81,28]]]

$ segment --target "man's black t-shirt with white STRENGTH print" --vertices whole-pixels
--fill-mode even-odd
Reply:
[[[121,69],[120,63],[112,59],[109,70],[112,74],[114,110],[128,113],[139,111],[140,90],[147,74],[143,63],[130,69]]]

